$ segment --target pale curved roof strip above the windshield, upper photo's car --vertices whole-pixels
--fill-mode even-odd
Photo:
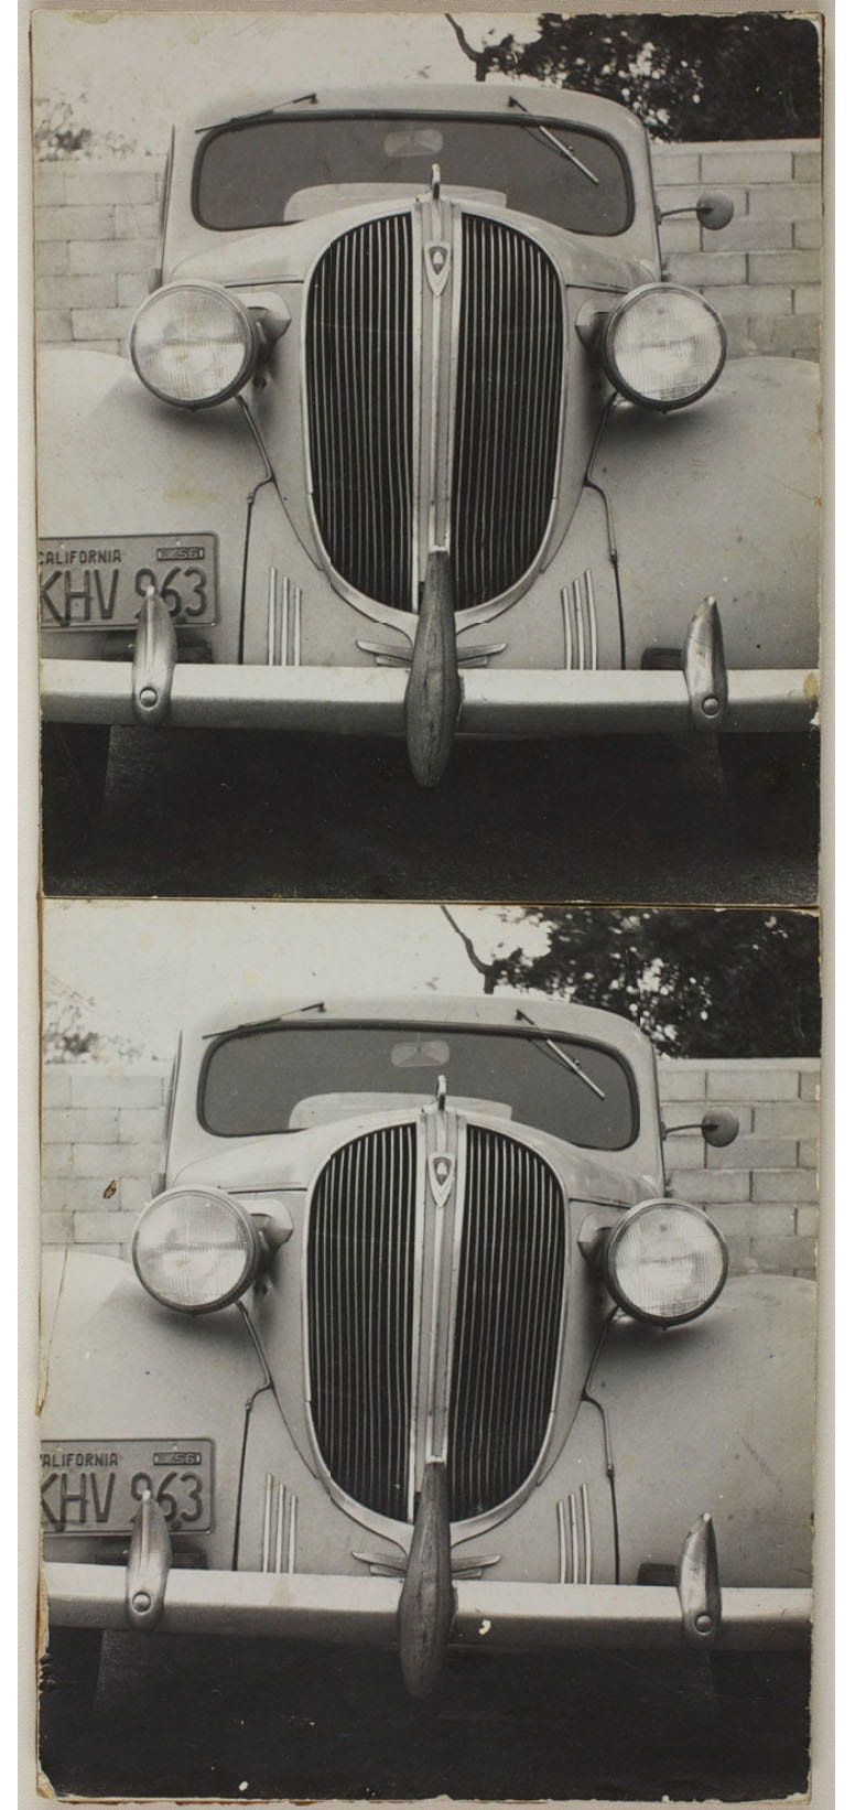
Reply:
[[[616,138],[645,138],[640,119],[607,101],[600,94],[586,94],[578,89],[557,89],[540,81],[479,81],[479,83],[421,83],[398,81],[389,87],[363,89],[316,89],[311,94],[291,96],[280,83],[277,89],[231,90],[208,100],[192,121],[197,132],[215,125],[228,125],[233,119],[246,119],[253,114],[277,112],[280,118],[307,118],[320,112],[459,112],[497,114],[506,112],[512,100],[519,100],[533,114],[544,119],[573,119],[578,125],[606,127]]]

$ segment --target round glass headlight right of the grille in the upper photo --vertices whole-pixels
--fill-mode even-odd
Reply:
[[[618,302],[606,322],[602,360],[629,402],[683,409],[716,382],[725,328],[694,290],[651,282]]]

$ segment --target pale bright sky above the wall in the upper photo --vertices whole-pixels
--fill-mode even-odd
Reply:
[[[472,45],[508,31],[537,36],[537,13],[465,13]],[[474,81],[443,13],[45,13],[33,16],[34,94],[70,101],[103,132],[166,150],[199,96],[282,85]]]

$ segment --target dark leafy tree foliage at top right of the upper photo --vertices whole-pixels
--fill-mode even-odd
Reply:
[[[490,72],[584,89],[631,107],[663,139],[815,138],[819,36],[779,13],[540,13],[539,36],[457,43]]]

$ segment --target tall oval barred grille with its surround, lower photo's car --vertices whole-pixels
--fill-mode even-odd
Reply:
[[[437,1428],[452,1522],[501,1519],[533,1486],[553,1424],[564,1187],[524,1138],[483,1120],[457,1124],[457,1191],[441,1209],[430,1204],[418,1119],[342,1142],[309,1191],[309,1424],[333,1495],[374,1526],[412,1524]],[[437,1265],[423,1262],[434,1234]]]

